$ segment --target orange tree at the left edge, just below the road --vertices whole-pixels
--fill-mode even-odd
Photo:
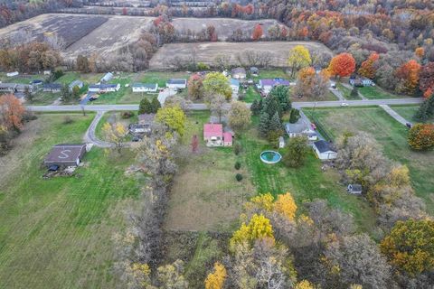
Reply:
[[[5,129],[20,130],[23,127],[24,107],[13,94],[0,97],[0,125]]]

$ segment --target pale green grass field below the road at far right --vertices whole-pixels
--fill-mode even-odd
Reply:
[[[413,109],[397,109],[397,112]],[[364,131],[373,135],[388,158],[409,167],[411,183],[416,194],[425,200],[429,213],[434,213],[434,178],[432,178],[434,153],[410,150],[406,126],[395,121],[380,107],[321,108],[316,109],[315,115],[333,138],[344,131],[353,133]],[[402,115],[402,117],[409,116],[410,113]],[[348,121],[349,119],[351,121]]]

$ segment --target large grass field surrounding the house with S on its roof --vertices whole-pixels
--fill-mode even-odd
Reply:
[[[134,154],[92,148],[80,177],[42,179],[53,144],[80,143],[93,115],[41,115],[0,158],[0,288],[114,288],[114,235],[138,194]]]

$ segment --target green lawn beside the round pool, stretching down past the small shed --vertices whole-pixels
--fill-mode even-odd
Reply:
[[[344,186],[338,183],[337,172],[323,172],[322,164],[313,152],[309,152],[302,167],[292,169],[283,163],[266,164],[260,161],[259,154],[272,147],[259,138],[256,128],[242,135],[240,141],[242,157],[258,193],[271,192],[276,196],[290,191],[299,206],[307,200],[325,199],[331,206],[351,213],[361,230],[373,232],[373,210],[366,201],[345,191]]]

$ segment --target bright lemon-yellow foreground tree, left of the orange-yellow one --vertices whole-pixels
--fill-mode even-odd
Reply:
[[[254,240],[260,238],[271,238],[274,240],[273,227],[269,219],[264,215],[254,214],[248,225],[242,223],[241,228],[233,233],[231,247],[244,242],[251,244]]]

